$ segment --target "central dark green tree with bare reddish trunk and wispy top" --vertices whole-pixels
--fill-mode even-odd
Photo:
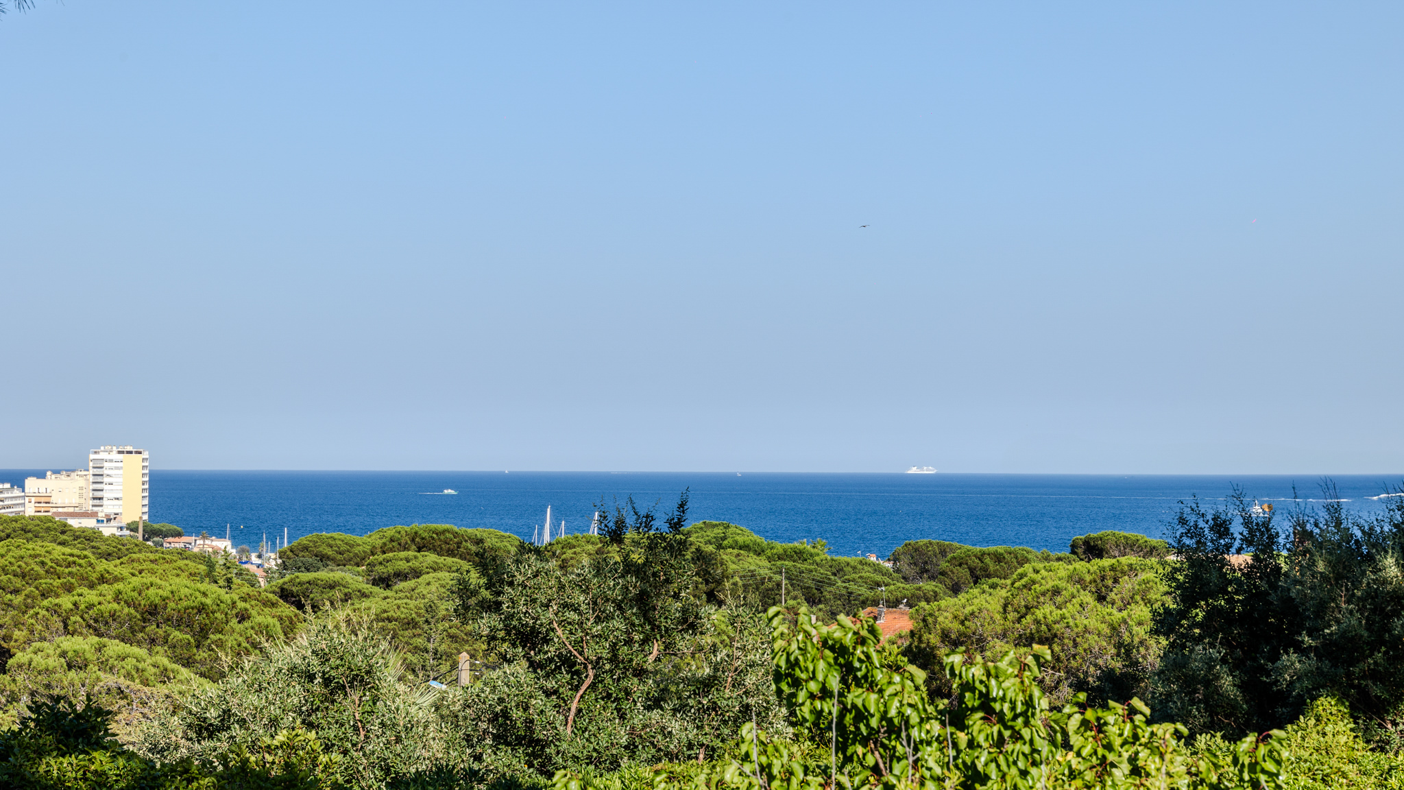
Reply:
[[[461,576],[459,614],[503,663],[458,708],[477,760],[549,776],[703,759],[741,721],[778,724],[764,621],[709,602],[712,555],[685,512],[684,498],[658,529],[633,510],[570,564],[524,547],[482,581]]]

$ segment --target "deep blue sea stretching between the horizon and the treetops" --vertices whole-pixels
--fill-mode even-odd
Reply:
[[[22,485],[44,471],[0,470]],[[1404,475],[1337,477],[1348,507],[1372,500]],[[716,474],[716,472],[306,472],[152,471],[153,522],[257,547],[264,534],[291,540],[323,531],[364,536],[393,524],[491,527],[529,540],[550,506],[553,529],[587,531],[595,503],[633,496],[665,513],[688,488],[689,520],[741,524],[776,541],[823,538],[830,554],[886,557],[907,540],[1028,545],[1067,551],[1074,536],[1101,530],[1160,537],[1178,502],[1210,502],[1233,485],[1290,506],[1293,486],[1311,505],[1320,478],[981,474]],[[435,493],[445,488],[456,495]],[[661,519],[660,519],[661,520]]]

